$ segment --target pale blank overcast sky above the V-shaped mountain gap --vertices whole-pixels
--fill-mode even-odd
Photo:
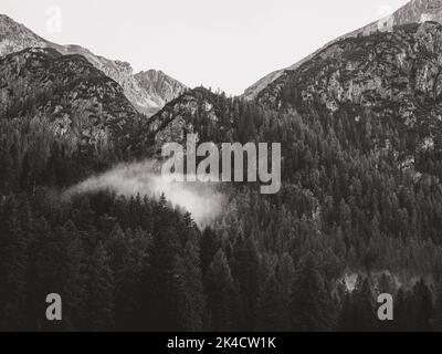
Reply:
[[[241,94],[265,74],[407,2],[1,0],[0,12],[53,42],[128,61],[135,71],[162,70],[189,86]],[[56,9],[61,28],[49,22]]]

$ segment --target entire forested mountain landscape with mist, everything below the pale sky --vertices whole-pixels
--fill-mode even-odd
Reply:
[[[441,23],[410,1],[229,96],[0,14],[0,331],[442,330]],[[281,143],[281,191],[165,183],[190,133]]]

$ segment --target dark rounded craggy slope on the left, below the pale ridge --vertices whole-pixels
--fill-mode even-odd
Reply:
[[[118,83],[83,56],[54,49],[27,49],[0,59],[0,118],[41,125],[73,149],[127,147],[134,126],[143,123]]]

